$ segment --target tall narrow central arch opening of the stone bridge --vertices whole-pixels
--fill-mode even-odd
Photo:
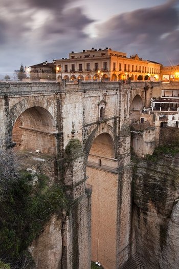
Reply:
[[[106,126],[93,134],[86,165],[87,187],[93,189],[92,260],[106,268],[116,268],[117,247],[117,216],[111,208],[118,210],[118,161],[111,129]]]

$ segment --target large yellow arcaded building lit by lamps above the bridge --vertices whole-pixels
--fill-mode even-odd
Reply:
[[[81,79],[117,81],[120,79],[158,81],[161,65],[139,56],[114,51],[110,48],[73,51],[69,58],[55,60],[57,80]]]

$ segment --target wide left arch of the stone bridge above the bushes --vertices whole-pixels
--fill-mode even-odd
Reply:
[[[25,98],[14,105],[10,111],[10,140],[20,146],[19,150],[39,150],[49,155],[55,154],[56,122],[52,103],[46,99]]]

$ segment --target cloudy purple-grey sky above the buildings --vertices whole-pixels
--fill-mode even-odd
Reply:
[[[178,2],[1,0],[0,73],[92,47],[178,65]]]

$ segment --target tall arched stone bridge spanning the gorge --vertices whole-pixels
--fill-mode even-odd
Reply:
[[[0,84],[7,148],[15,142],[19,151],[53,157],[53,178],[65,184],[72,201],[62,231],[63,269],[89,269],[91,260],[121,268],[132,254],[129,115],[149,105],[151,92],[144,87],[145,82]]]

